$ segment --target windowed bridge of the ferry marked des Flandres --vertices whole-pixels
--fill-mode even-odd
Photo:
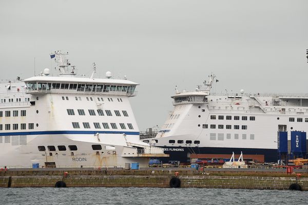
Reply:
[[[208,94],[204,92],[181,92],[177,93],[174,96],[171,96],[171,98],[174,98],[174,105],[178,104],[200,104],[200,103],[206,103],[207,102],[207,96]]]

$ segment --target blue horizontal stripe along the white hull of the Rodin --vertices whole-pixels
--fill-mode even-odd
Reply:
[[[8,135],[56,135],[56,134],[126,134],[139,135],[139,132],[121,132],[121,131],[33,131],[33,132],[1,132],[0,136]]]

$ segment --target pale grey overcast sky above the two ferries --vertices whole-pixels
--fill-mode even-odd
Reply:
[[[79,74],[139,83],[140,130],[163,125],[170,96],[213,72],[213,91],[308,93],[308,1],[0,1],[1,78],[51,67],[68,51]],[[53,74],[57,73],[53,71]]]

